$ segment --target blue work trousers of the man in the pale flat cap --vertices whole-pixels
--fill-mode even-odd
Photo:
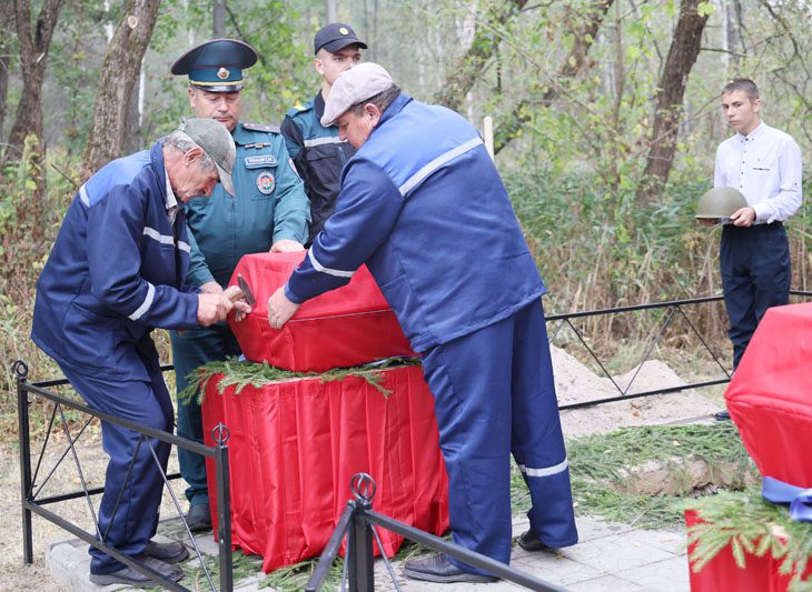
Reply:
[[[430,349],[423,368],[435,395],[454,541],[509,562],[513,452],[517,464],[537,475],[525,474],[533,532],[549,546],[575,544],[570,470],[541,301]]]

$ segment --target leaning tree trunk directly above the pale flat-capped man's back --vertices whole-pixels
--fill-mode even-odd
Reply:
[[[479,27],[477,20],[474,41],[468,51],[459,59],[452,74],[446,79],[443,90],[437,92],[432,102],[443,104],[455,111],[463,110],[465,96],[474,83],[482,77],[487,62],[496,53],[502,38],[494,32],[494,29],[504,27],[525,7],[527,0],[508,0],[501,4],[499,9],[487,14],[486,27]]]

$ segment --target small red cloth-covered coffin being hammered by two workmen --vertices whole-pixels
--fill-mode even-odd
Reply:
[[[251,362],[268,362],[294,372],[325,372],[393,355],[414,355],[395,313],[366,265],[344,288],[308,300],[280,330],[268,322],[268,298],[299,267],[305,252],[247,254],[237,274],[250,285],[257,303],[248,318],[229,325]]]

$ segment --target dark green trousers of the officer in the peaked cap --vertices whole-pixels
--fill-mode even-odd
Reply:
[[[242,353],[237,339],[225,323],[192,329],[180,335],[177,331],[170,331],[170,335],[177,392],[187,388],[189,381],[186,377],[198,367]],[[197,398],[184,404],[178,401],[178,435],[204,443],[202,414]],[[192,505],[208,503],[206,459],[202,454],[178,448],[178,463],[180,474],[189,485],[186,488],[186,499],[189,503]]]

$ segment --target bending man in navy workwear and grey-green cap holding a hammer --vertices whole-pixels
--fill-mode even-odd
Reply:
[[[150,150],[115,160],[79,188],[37,282],[31,338],[91,408],[171,432],[172,402],[154,328],[210,325],[244,302],[187,284],[189,235],[178,202],[231,187],[235,148],[221,124],[190,119]],[[101,423],[107,465],[99,506],[106,544],[170,580],[189,553],[150,539],[158,525],[169,444]],[[158,458],[160,466],[154,459]],[[90,581],[150,580],[90,548]]]

